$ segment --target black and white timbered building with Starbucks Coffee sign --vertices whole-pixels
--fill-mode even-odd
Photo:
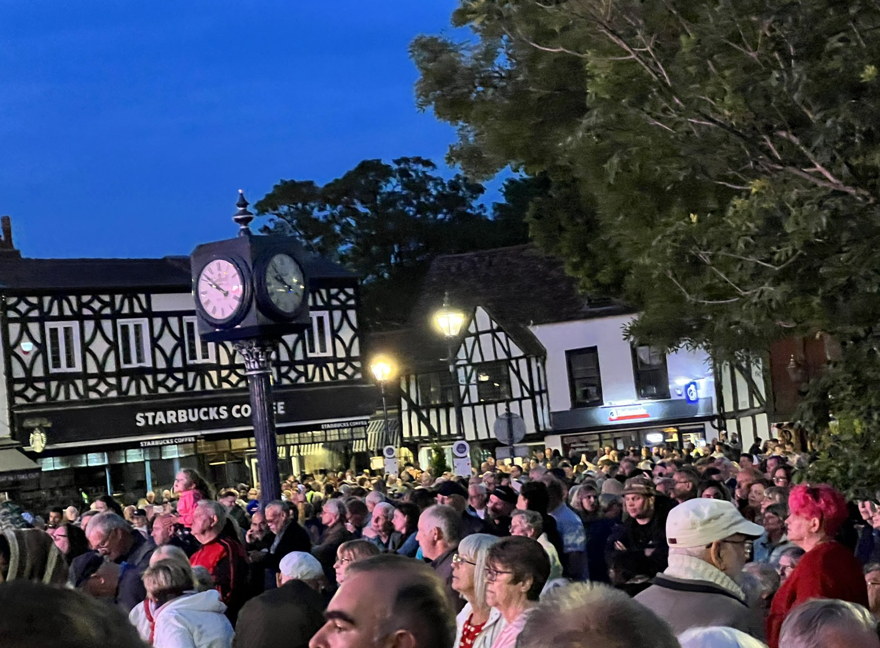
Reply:
[[[143,497],[180,467],[254,483],[244,365],[199,339],[188,258],[21,258],[8,219],[0,246],[0,492]],[[307,272],[312,327],[275,359],[284,475],[367,451],[378,399],[356,277],[319,257]]]

